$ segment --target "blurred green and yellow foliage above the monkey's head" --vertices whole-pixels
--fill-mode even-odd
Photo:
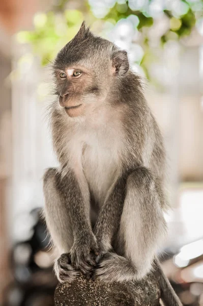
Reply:
[[[105,3],[108,3],[107,7],[104,7]],[[138,7],[138,3],[143,5]],[[155,6],[156,3],[160,7]],[[81,10],[70,10],[67,8],[67,0],[63,0],[52,11],[36,14],[34,30],[17,33],[17,40],[20,43],[30,43],[34,53],[40,56],[42,65],[46,65],[77,33],[84,19],[89,20],[88,23],[91,24],[99,22],[102,25],[101,30],[105,30],[106,28],[113,28],[121,20],[136,16],[136,22],[133,23],[134,29],[141,33],[142,41],[138,43],[144,49],[142,59],[136,63],[141,65],[148,75],[149,61],[146,61],[150,52],[148,29],[153,27],[156,20],[163,17],[168,20],[168,27],[158,37],[159,44],[163,45],[168,40],[179,40],[188,36],[195,26],[197,18],[202,18],[200,16],[203,11],[202,0],[168,0],[167,3],[173,3],[171,8],[164,3],[164,0],[110,0],[108,2],[89,0],[89,3],[82,3]],[[102,9],[103,15],[101,14]],[[100,18],[98,18],[98,12]]]

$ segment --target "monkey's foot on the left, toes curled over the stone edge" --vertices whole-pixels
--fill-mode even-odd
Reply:
[[[54,263],[54,271],[56,277],[60,283],[72,283],[77,277],[80,276],[80,272],[76,271],[71,265],[71,259],[69,253],[64,253]]]

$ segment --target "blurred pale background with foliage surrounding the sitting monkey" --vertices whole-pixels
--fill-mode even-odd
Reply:
[[[128,50],[168,155],[163,269],[184,305],[203,305],[202,0],[7,0],[0,4],[0,305],[53,305],[42,175],[49,63],[83,20]]]

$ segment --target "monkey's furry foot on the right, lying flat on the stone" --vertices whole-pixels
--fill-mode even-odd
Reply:
[[[133,281],[136,271],[127,258],[108,252],[95,270],[94,279],[105,283]]]

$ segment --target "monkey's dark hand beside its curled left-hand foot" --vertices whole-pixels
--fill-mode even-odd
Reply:
[[[71,262],[76,270],[90,278],[96,266],[95,257],[99,254],[97,241],[93,233],[76,239],[71,248]]]

